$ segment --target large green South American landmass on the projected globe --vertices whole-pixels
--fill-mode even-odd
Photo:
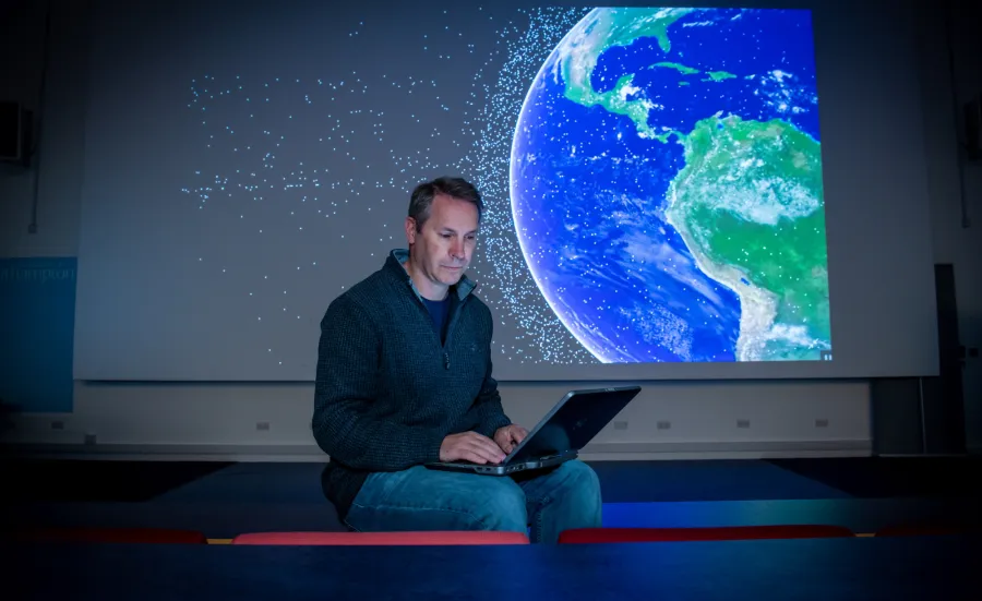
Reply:
[[[775,119],[714,116],[685,137],[668,221],[741,298],[741,360],[817,359],[830,339],[818,142]]]

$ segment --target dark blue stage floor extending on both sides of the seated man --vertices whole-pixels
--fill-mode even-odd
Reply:
[[[342,530],[311,462],[7,458],[4,526]],[[607,527],[980,524],[982,460],[836,458],[591,461]]]

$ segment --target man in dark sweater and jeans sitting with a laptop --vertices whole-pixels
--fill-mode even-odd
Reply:
[[[314,437],[322,483],[352,530],[510,530],[554,542],[600,526],[596,473],[579,460],[515,477],[426,468],[500,462],[528,432],[491,375],[492,318],[464,275],[483,204],[463,179],[412,192],[409,249],[340,295],[321,322]]]

